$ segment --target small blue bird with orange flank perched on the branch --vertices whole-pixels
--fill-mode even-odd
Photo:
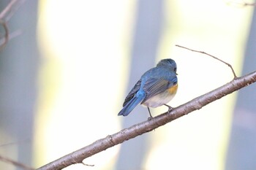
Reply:
[[[149,69],[140,77],[134,88],[124,100],[123,109],[118,116],[127,116],[138,104],[148,107],[160,107],[165,105],[170,112],[172,107],[167,103],[175,96],[178,89],[177,66],[173,59],[167,58],[159,61],[157,66]]]

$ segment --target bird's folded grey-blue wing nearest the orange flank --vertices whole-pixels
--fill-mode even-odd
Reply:
[[[157,78],[151,78],[148,81],[145,82],[145,85],[143,86],[143,90],[146,93],[145,98],[143,101],[141,101],[141,104],[143,104],[148,98],[151,98],[152,96],[155,96],[159,93],[164,92],[167,90],[167,88],[172,87],[173,85],[176,85],[177,83],[177,77],[173,77],[173,80],[165,80],[165,79],[157,79]]]

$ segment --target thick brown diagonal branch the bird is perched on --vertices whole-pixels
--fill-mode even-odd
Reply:
[[[141,134],[145,134],[148,131],[152,131],[159,126],[170,123],[173,120],[176,120],[178,117],[189,114],[189,112],[200,109],[206,104],[210,104],[213,101],[216,101],[219,98],[226,96],[227,94],[233,93],[240,88],[244,88],[247,85],[256,82],[256,71],[249,73],[243,77],[237,77],[236,79],[228,82],[226,85],[212,90],[202,96],[192,99],[186,104],[182,104],[179,107],[173,109],[170,113],[163,113],[157,117],[153,117],[151,120],[132,125],[129,128],[124,128],[123,130],[117,132],[116,134],[108,135],[103,139],[99,139],[96,142],[89,144],[86,147],[81,148],[75,152],[69,153],[62,158],[59,158],[56,161],[48,163],[45,166],[40,167],[37,170],[57,170],[64,169],[67,166],[70,166],[75,163],[83,163],[85,158],[89,158],[92,155],[107,150],[109,147],[113,147],[116,144],[121,144],[129,139],[135,138]]]

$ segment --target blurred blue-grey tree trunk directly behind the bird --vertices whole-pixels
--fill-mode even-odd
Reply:
[[[135,32],[131,50],[130,77],[127,93],[140,76],[156,64],[158,42],[163,20],[163,1],[140,0],[137,2]],[[125,96],[124,96],[125,97]],[[140,113],[140,114],[136,114]],[[148,109],[136,107],[131,116],[125,117],[123,127],[146,120]],[[116,169],[142,169],[145,151],[148,150],[148,134],[121,144]],[[133,150],[134,152],[131,152]],[[136,152],[140,150],[140,152]]]

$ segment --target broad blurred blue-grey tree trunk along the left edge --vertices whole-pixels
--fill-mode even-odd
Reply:
[[[9,2],[0,1],[1,10]],[[11,39],[0,52],[0,154],[31,165],[39,61],[37,1],[22,4],[8,26],[10,33],[21,30],[22,34]],[[15,168],[0,162],[0,169]]]

